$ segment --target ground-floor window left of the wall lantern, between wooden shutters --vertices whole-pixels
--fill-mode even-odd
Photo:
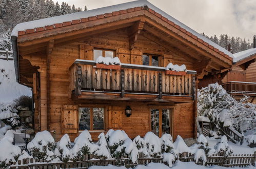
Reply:
[[[104,108],[79,108],[79,130],[104,130]]]

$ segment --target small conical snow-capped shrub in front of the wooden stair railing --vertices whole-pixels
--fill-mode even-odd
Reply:
[[[222,136],[214,147],[216,149],[215,153],[222,154],[224,157],[233,154],[233,149],[228,145],[228,139],[226,136]]]

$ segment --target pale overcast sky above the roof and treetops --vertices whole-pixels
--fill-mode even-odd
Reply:
[[[129,0],[53,0],[88,10]],[[250,39],[256,34],[256,0],[148,0],[175,19],[208,36],[228,34]]]

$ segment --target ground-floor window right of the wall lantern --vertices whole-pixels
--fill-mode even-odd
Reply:
[[[164,133],[173,134],[173,109],[150,109],[151,131],[161,137]]]

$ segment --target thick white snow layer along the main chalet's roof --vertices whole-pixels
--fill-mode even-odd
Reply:
[[[40,19],[40,20],[33,20],[30,22],[26,23],[21,23],[17,24],[15,28],[12,30],[11,36],[18,36],[19,31],[24,31],[28,29],[34,29],[34,28],[40,28],[44,26],[49,26],[57,23],[64,23],[64,22],[70,22],[72,20],[76,19],[81,19],[81,18],[87,18],[90,16],[96,16],[100,14],[106,14],[106,13],[111,13],[114,11],[120,11],[120,10],[125,10],[125,9],[130,9],[130,8],[135,8],[135,7],[144,7],[147,6],[149,9],[154,10],[155,12],[161,14],[163,17],[166,17],[168,20],[173,22],[176,25],[179,25],[181,28],[185,29],[186,31],[192,33],[193,35],[197,36],[198,38],[202,39],[209,45],[213,46],[214,48],[220,50],[224,54],[233,57],[232,53],[227,51],[226,49],[222,48],[221,46],[213,43],[210,39],[204,37],[200,33],[194,31],[193,29],[187,27],[183,23],[179,22],[179,20],[176,20],[172,16],[168,15],[161,9],[155,7],[151,3],[149,3],[146,0],[139,0],[139,1],[133,1],[129,3],[124,3],[124,4],[118,4],[118,5],[113,5],[113,6],[108,6],[108,7],[103,7],[103,8],[97,8],[93,10],[88,10],[88,11],[83,11],[83,12],[77,12],[77,13],[72,13],[72,14],[67,14],[67,15],[61,15],[61,16],[55,16],[55,17],[50,17],[50,18],[45,18],[45,19]]]

